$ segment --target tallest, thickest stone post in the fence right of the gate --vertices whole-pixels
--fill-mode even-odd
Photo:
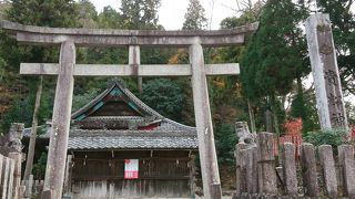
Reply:
[[[257,165],[258,192],[277,195],[277,181],[274,157],[274,135],[271,133],[257,134]]]

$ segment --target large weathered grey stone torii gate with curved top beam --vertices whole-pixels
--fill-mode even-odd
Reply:
[[[62,29],[22,25],[9,21],[0,21],[0,25],[1,29],[16,34],[20,43],[61,45],[59,63],[21,63],[20,66],[20,74],[24,75],[58,75],[44,179],[44,190],[51,190],[51,198],[60,199],[62,195],[73,76],[192,76],[204,197],[222,197],[206,75],[237,75],[240,69],[237,63],[205,65],[202,45],[243,44],[244,35],[254,32],[257,23],[219,31]],[[129,64],[75,64],[75,45],[129,46]],[[141,65],[141,45],[189,46],[190,65]]]

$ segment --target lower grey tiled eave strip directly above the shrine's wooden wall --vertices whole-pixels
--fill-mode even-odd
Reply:
[[[197,137],[183,132],[78,130],[72,133],[68,143],[69,150],[160,148],[197,149]]]

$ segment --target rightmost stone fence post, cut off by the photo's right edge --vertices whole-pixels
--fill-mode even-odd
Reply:
[[[352,145],[341,145],[338,150],[338,164],[342,168],[345,190],[348,198],[355,198],[355,160],[354,147]]]

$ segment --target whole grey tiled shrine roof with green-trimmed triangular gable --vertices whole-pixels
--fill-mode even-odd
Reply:
[[[110,106],[115,115],[102,115],[101,109],[106,104],[121,103],[120,106]],[[123,108],[122,115],[115,107]],[[131,108],[131,109],[128,109]],[[99,113],[99,114],[98,114]],[[100,115],[101,114],[101,115]],[[138,124],[135,128],[108,129],[105,125]],[[85,128],[85,125],[102,125],[99,129]],[[153,126],[151,126],[153,125]],[[149,127],[148,129],[144,127]],[[23,130],[23,137],[30,137],[31,128]],[[50,126],[38,138],[49,139]],[[166,117],[145,105],[125,86],[115,82],[111,87],[98,95],[82,108],[72,114],[72,125],[69,134],[69,150],[95,149],[197,149],[195,127],[186,126]]]

